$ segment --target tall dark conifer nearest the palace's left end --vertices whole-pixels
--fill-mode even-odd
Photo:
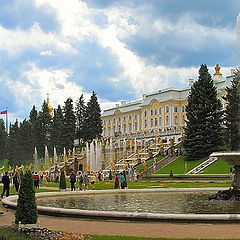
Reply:
[[[84,140],[92,141],[102,134],[101,109],[95,92],[92,93],[87,103],[83,129],[85,131]]]

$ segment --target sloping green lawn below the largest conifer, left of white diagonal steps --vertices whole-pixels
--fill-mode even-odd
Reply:
[[[195,161],[187,161],[185,157],[181,156],[157,171],[156,174],[169,174],[171,170],[173,171],[173,174],[185,174],[205,160],[206,158]]]

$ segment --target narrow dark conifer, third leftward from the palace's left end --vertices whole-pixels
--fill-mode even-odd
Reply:
[[[68,98],[63,108],[64,112],[64,146],[66,149],[72,149],[75,140],[76,117],[73,110],[73,100]]]

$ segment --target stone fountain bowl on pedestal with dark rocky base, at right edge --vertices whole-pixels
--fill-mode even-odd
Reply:
[[[233,166],[231,173],[232,187],[227,190],[219,190],[209,199],[217,200],[240,200],[240,152],[214,152],[210,157],[223,157],[224,160]]]

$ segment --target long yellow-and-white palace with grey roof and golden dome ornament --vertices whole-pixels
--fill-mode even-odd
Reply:
[[[231,85],[233,72],[223,77],[216,65],[212,76],[218,97],[223,107],[222,96],[226,87]],[[121,102],[114,108],[103,111],[103,136],[112,138],[147,138],[158,136],[163,139],[180,139],[186,120],[185,107],[187,97],[194,80],[184,89],[168,88],[151,94],[144,94],[142,99]]]

